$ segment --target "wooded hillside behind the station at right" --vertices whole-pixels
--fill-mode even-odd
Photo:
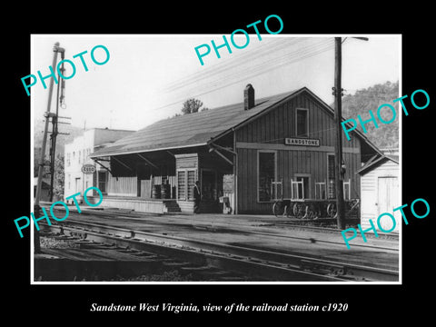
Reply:
[[[371,110],[374,116],[377,117],[377,108],[381,104],[392,104],[392,101],[399,96],[398,81],[375,84],[366,89],[357,90],[355,94],[348,94],[342,98],[342,116],[357,121],[357,115],[360,114],[362,120],[367,120],[371,118],[370,114],[368,114]],[[375,128],[372,123],[365,124],[365,128],[368,130],[368,133],[365,134],[366,137],[381,149],[399,147],[398,122],[401,112],[398,111],[398,103],[393,104],[393,106],[397,112],[397,117],[391,124],[379,124],[378,122],[379,128]],[[391,111],[388,108],[382,109],[381,117],[383,120],[389,121],[392,117]],[[360,124],[358,129],[362,132]],[[347,142],[347,140],[345,139],[344,142]]]

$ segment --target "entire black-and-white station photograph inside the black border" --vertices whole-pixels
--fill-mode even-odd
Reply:
[[[275,28],[33,35],[33,282],[401,282],[401,35]]]

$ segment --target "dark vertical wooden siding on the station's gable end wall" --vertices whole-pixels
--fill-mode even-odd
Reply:
[[[286,137],[295,136],[296,108],[308,109],[309,138],[319,139],[319,147],[290,146]],[[309,174],[310,198],[315,197],[315,183],[326,182],[327,154],[334,154],[334,120],[310,94],[302,93],[272,108],[267,114],[235,131],[238,154],[238,213],[272,213],[272,202],[258,201],[258,152],[276,154],[276,181],[283,183],[283,197],[291,198],[291,179]],[[352,198],[360,198],[360,140],[343,141],[343,159],[347,171],[344,181],[351,180]]]

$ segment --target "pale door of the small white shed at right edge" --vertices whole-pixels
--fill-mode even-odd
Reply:
[[[397,177],[379,177],[378,181],[378,215],[381,213],[392,213],[393,208],[400,206],[398,199],[398,178]],[[401,220],[398,219],[397,214],[394,215],[396,218],[395,232],[398,232],[399,223]],[[391,230],[392,221],[387,215],[381,217],[380,226],[384,230]]]

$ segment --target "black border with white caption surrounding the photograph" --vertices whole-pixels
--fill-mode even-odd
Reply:
[[[436,99],[432,73],[435,71],[432,51],[431,8],[412,4],[407,10],[398,7],[381,8],[380,4],[349,3],[348,5],[315,3],[299,6],[294,3],[267,7],[267,4],[223,3],[183,4],[175,8],[157,8],[145,3],[99,3],[25,5],[17,10],[14,23],[3,22],[5,31],[12,31],[4,39],[3,64],[6,67],[4,94],[4,145],[6,181],[4,193],[5,294],[7,314],[19,317],[23,312],[32,317],[50,319],[72,317],[113,319],[187,318],[208,319],[225,317],[254,318],[268,316],[270,322],[292,323],[292,319],[312,317],[338,323],[357,321],[393,322],[394,318],[419,314],[422,319],[431,312],[431,233],[434,223],[434,195],[430,192],[432,177],[431,123]],[[33,8],[35,6],[35,8]],[[36,10],[36,9],[39,9]],[[42,10],[41,10],[42,9]],[[36,14],[39,13],[39,14]],[[429,13],[429,14],[427,14]],[[30,74],[31,34],[230,34],[236,28],[251,24],[268,15],[280,15],[284,23],[282,34],[401,34],[402,35],[402,94],[424,89],[431,104],[425,110],[409,111],[402,116],[402,186],[403,203],[424,198],[431,205],[425,219],[411,218],[403,225],[403,284],[402,285],[30,285],[29,233],[19,239],[13,220],[27,215],[30,208],[30,102],[23,92],[20,78]],[[7,33],[7,32],[6,32]],[[12,63],[11,63],[12,61]],[[330,87],[330,85],[329,85]],[[12,91],[12,93],[10,92]],[[408,104],[406,102],[406,104]],[[409,103],[410,105],[410,103]],[[7,131],[7,132],[6,132]],[[7,135],[7,136],[6,136]],[[6,159],[7,158],[7,159]],[[410,212],[407,212],[408,216]],[[429,261],[430,259],[430,261]],[[430,262],[430,263],[429,263]],[[218,305],[243,302],[245,304],[311,304],[347,302],[347,312],[288,312],[165,314],[136,312],[89,312],[92,302],[134,304],[138,302],[172,302]],[[30,313],[30,314],[29,314]],[[132,314],[132,315],[131,315]],[[71,318],[68,318],[71,317]],[[285,320],[272,320],[274,318]],[[413,318],[413,316],[411,316]],[[347,320],[344,320],[347,319]],[[352,320],[350,320],[352,319]]]

